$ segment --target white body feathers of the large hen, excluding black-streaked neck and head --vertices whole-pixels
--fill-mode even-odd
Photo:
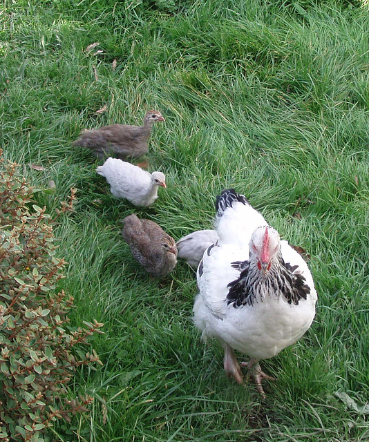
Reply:
[[[287,241],[281,241],[285,262],[299,267],[299,273],[310,287],[307,299],[298,304],[276,296],[272,289],[255,298],[251,304],[235,307],[227,299],[229,283],[237,280],[240,269],[234,262],[249,259],[249,242],[256,228],[267,222],[249,204],[234,202],[216,222],[217,247],[204,253],[198,269],[198,287],[193,312],[196,326],[204,337],[216,337],[256,361],[275,356],[298,340],[314,318],[316,291],[308,265]]]

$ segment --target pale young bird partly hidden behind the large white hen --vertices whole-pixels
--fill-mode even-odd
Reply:
[[[197,230],[182,236],[177,241],[178,258],[185,260],[193,269],[197,269],[205,250],[217,240],[216,230]]]

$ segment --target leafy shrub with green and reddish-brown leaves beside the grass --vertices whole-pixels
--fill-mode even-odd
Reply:
[[[92,401],[68,400],[66,386],[77,367],[100,363],[94,351],[77,358],[72,350],[100,332],[102,324],[67,326],[73,298],[57,292],[66,263],[55,256],[56,218],[34,204],[35,188],[1,154],[0,439],[44,441],[56,419],[69,421]],[[73,200],[72,190],[59,215],[73,209]]]

